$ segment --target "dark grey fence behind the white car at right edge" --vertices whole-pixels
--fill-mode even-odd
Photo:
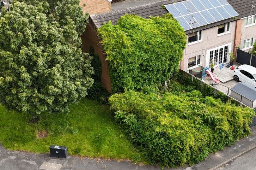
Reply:
[[[256,56],[247,53],[243,50],[237,49],[236,62],[239,64],[247,64],[256,67]]]

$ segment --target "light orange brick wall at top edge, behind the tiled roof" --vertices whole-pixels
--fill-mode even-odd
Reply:
[[[80,6],[83,8],[84,13],[99,14],[111,11],[112,0],[81,0]],[[86,4],[86,6],[83,6]]]

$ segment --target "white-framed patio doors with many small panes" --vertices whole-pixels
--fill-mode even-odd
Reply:
[[[231,44],[226,44],[207,51],[206,65],[209,67],[211,62],[215,66],[221,63],[229,62],[229,52],[231,51]]]

